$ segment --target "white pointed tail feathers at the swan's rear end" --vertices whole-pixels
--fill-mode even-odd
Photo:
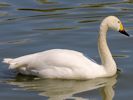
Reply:
[[[2,62],[9,64],[9,69],[16,69],[18,67],[26,66],[26,64],[20,63],[20,61],[17,61],[13,58],[4,58]]]

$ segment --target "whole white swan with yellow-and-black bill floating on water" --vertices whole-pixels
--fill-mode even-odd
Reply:
[[[9,69],[40,78],[84,80],[111,77],[116,74],[117,66],[106,41],[108,28],[129,36],[116,16],[103,19],[98,36],[101,65],[78,51],[67,49],[51,49],[18,58],[4,58],[3,62],[9,64]]]

